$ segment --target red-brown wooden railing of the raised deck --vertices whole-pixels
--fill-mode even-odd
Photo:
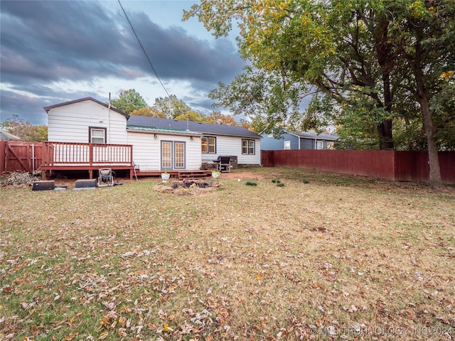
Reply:
[[[133,146],[46,142],[44,166],[133,166]]]

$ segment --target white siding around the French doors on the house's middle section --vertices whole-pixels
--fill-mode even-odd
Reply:
[[[154,133],[139,133],[128,131],[128,144],[133,145],[134,163],[141,171],[161,171],[161,141],[185,142],[186,170],[196,171],[202,164],[200,158],[200,137],[176,136]]]

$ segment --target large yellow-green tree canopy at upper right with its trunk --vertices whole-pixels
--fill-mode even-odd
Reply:
[[[439,187],[430,104],[440,90],[439,75],[454,68],[454,7],[454,1],[432,0],[205,0],[184,18],[198,16],[215,36],[227,34],[232,22],[240,27],[240,53],[252,68],[213,93],[220,103],[252,108],[247,100],[257,98],[255,109],[267,117],[268,129],[295,124],[299,116],[302,125],[319,124],[324,114],[356,141],[366,141],[363,146],[378,141],[382,149],[394,148],[394,121],[402,126],[419,120],[430,183]],[[261,82],[256,91],[261,96],[252,97]],[[299,115],[296,108],[309,87],[319,98]],[[412,107],[410,98],[419,106],[418,116],[400,109]],[[451,105],[439,107],[441,129],[447,131]]]

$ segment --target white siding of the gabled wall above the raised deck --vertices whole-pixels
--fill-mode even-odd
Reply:
[[[89,126],[105,128],[108,144],[126,144],[127,118],[90,100],[50,109],[48,141],[88,143]]]

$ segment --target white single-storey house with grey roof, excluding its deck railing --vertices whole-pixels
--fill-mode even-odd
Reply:
[[[130,116],[92,97],[44,110],[48,141],[132,145],[140,171],[198,170],[220,155],[260,163],[261,136],[240,126]]]

